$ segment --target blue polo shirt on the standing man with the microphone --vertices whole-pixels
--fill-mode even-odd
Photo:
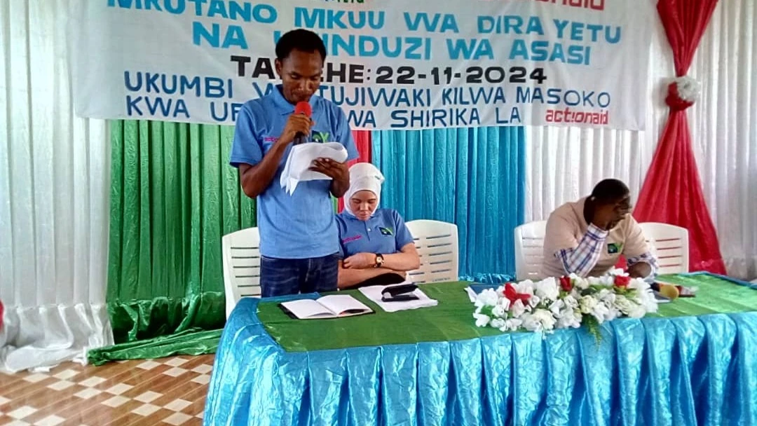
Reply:
[[[254,166],[263,160],[282,134],[294,105],[276,86],[269,95],[245,103],[236,120],[230,163]],[[313,107],[314,141],[338,141],[347,149],[347,158],[357,158],[357,148],[344,112],[319,96],[310,98]],[[287,194],[279,179],[291,151],[282,156],[271,185],[257,197],[257,227],[260,254],[277,259],[308,259],[338,253],[339,240],[330,180],[300,182],[294,194]]]

